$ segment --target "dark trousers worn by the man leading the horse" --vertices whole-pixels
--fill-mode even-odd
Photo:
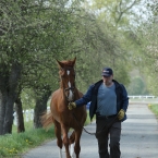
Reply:
[[[121,122],[111,122],[114,118],[97,119],[96,137],[98,139],[99,158],[120,158],[120,136],[121,136]],[[104,130],[102,130],[104,127]],[[110,137],[110,155],[108,153],[108,139]]]

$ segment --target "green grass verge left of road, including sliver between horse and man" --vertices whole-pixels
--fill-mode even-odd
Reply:
[[[85,125],[89,122],[87,112]],[[0,136],[0,158],[21,158],[31,148],[54,138],[53,125],[46,132],[44,129],[34,129],[33,122],[25,122],[25,129],[24,133],[16,133],[16,126],[13,125],[12,134]]]

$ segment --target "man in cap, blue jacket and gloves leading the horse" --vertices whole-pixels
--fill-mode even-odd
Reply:
[[[120,158],[121,122],[126,119],[129,98],[125,87],[113,80],[111,68],[102,70],[102,80],[89,86],[87,93],[78,100],[69,104],[72,110],[90,102],[89,117],[96,114],[96,137],[100,158]],[[117,119],[116,119],[117,118]],[[105,126],[107,130],[105,130]],[[110,154],[108,139],[110,137]]]

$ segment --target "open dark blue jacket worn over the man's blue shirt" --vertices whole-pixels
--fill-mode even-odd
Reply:
[[[126,89],[122,84],[119,84],[114,80],[112,80],[112,81],[116,85],[117,111],[119,112],[121,109],[126,111],[127,106],[129,106],[129,97],[127,97]],[[101,84],[102,84],[102,80],[90,85],[87,93],[81,99],[75,101],[76,107],[86,105],[88,101],[92,101],[90,107],[89,107],[90,120],[94,118],[94,114],[96,114],[98,88]],[[124,118],[121,121],[124,121],[124,120],[126,120],[126,114],[124,116]]]

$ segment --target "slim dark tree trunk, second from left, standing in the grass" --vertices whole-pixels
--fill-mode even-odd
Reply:
[[[25,132],[23,107],[20,97],[15,100],[15,111],[16,111],[16,120],[17,120],[17,133]]]

